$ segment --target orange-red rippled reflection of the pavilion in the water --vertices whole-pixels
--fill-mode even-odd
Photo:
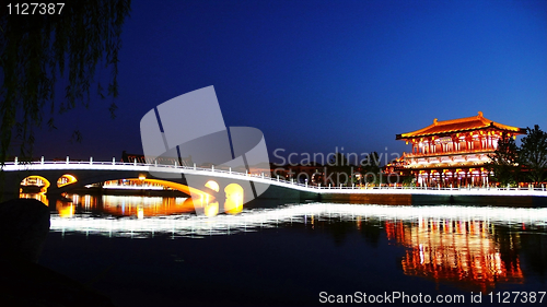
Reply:
[[[496,283],[524,281],[515,250],[511,247],[513,261],[503,261],[490,226],[472,220],[385,222],[388,239],[409,247],[401,260],[405,274],[480,287],[482,292],[492,290]]]

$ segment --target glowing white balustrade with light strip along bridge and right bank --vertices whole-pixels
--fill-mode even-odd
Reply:
[[[538,196],[538,197],[547,197],[547,190],[545,185],[539,187],[527,187],[527,188],[511,188],[511,187],[403,187],[399,185],[381,185],[381,186],[312,186],[307,182],[300,184],[291,180],[280,179],[279,176],[270,177],[268,174],[249,174],[247,172],[240,173],[234,172],[232,168],[228,170],[214,168],[202,168],[194,166],[182,166],[178,164],[174,165],[163,165],[158,164],[144,164],[144,163],[125,163],[118,162],[115,158],[109,162],[96,162],[93,161],[93,157],[90,157],[89,161],[70,161],[67,156],[66,161],[44,161],[44,157],[40,158],[39,162],[19,162],[18,157],[15,157],[14,162],[7,162],[3,166],[1,166],[3,172],[34,172],[33,174],[39,175],[40,170],[66,170],[69,173],[70,170],[133,170],[133,172],[142,172],[147,173],[153,168],[154,173],[165,173],[165,174],[188,174],[188,175],[201,175],[208,176],[211,178],[233,178],[238,180],[254,181],[267,184],[270,186],[284,187],[292,190],[312,192],[312,193],[381,193],[381,194],[437,194],[437,196],[451,196],[451,194],[459,194],[459,196]],[[168,181],[168,179],[166,179]]]

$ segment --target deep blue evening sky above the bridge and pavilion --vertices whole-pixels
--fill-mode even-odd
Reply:
[[[286,154],[401,153],[396,133],[479,110],[547,130],[545,0],[133,1],[119,59],[117,118],[109,101],[59,116],[37,156],[142,153],[142,116],[209,85],[226,126]]]

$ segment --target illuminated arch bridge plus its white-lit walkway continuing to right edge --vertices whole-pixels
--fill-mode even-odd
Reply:
[[[253,199],[322,200],[377,204],[501,204],[547,206],[545,186],[509,188],[407,188],[407,187],[317,187],[231,169],[181,165],[116,162],[54,161],[5,163],[3,191],[18,192],[25,178],[42,180],[42,192],[58,194],[91,184],[117,179],[140,179],[181,190],[194,199],[230,193],[243,202]]]

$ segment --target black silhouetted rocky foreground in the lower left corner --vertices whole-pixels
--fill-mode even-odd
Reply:
[[[113,306],[108,297],[36,263],[48,232],[44,203],[0,203],[0,306]]]

